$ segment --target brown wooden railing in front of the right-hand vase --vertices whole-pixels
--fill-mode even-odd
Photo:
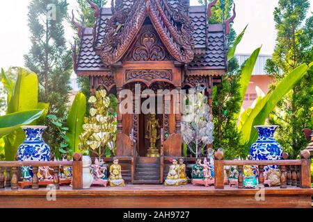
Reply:
[[[300,160],[287,160],[288,154],[283,153],[283,160],[223,160],[221,151],[214,153],[214,187],[224,189],[224,166],[237,166],[239,171],[238,188],[243,188],[243,167],[245,165],[257,166],[259,169],[259,184],[264,184],[264,166],[280,166],[280,188],[289,186],[311,188],[310,152],[301,151]]]

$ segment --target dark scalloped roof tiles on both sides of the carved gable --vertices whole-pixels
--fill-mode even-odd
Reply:
[[[175,0],[172,4],[175,5]],[[131,1],[129,1],[131,2]],[[189,15],[194,24],[193,39],[195,42],[195,56],[188,67],[191,69],[225,69],[225,40],[221,24],[207,24],[206,8],[204,6],[190,6]],[[96,46],[102,44],[105,35],[106,21],[112,15],[111,8],[101,8],[97,21]],[[206,43],[207,36],[207,43]],[[107,70],[99,56],[93,49],[93,28],[84,28],[81,37],[81,49],[77,62],[77,71]]]

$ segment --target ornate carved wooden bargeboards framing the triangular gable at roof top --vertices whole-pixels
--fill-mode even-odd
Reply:
[[[183,5],[183,10],[173,9],[165,0],[131,1],[131,5],[127,7],[122,1],[115,1],[113,15],[106,21],[104,30],[106,34],[103,42],[100,46],[95,47],[97,55],[102,58],[105,65],[118,62],[134,41],[146,16],[149,16],[170,55],[179,62],[191,62],[194,47],[193,24],[188,16],[188,7],[181,2],[179,1],[179,6]],[[151,41],[154,40],[154,36],[150,34],[146,35],[145,42],[143,42],[146,48],[147,44],[151,44]],[[164,57],[162,50],[157,54],[158,56],[152,52],[152,59],[161,60]],[[136,60],[138,60],[138,56],[141,54],[138,53]],[[143,56],[147,56],[146,60],[151,59],[149,53],[144,53]]]

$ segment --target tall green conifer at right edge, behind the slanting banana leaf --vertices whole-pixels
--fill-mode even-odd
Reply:
[[[278,31],[273,57],[266,62],[266,72],[274,78],[271,88],[277,87],[289,72],[302,63],[313,60],[313,17],[307,17],[308,0],[280,0],[274,11]],[[306,19],[306,20],[305,20]],[[301,130],[313,128],[313,71],[286,94],[269,115],[269,123],[279,125],[276,139],[291,158],[296,157],[307,142]]]

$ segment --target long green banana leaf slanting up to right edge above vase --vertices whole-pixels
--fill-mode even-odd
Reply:
[[[251,146],[257,139],[257,130],[255,130],[253,126],[264,124],[266,118],[275,108],[278,101],[280,101],[280,99],[282,99],[282,97],[286,95],[301,80],[301,78],[303,78],[303,76],[307,73],[307,70],[310,69],[312,65],[313,62],[311,62],[309,66],[306,64],[299,65],[296,69],[287,74],[287,76],[285,76],[280,83],[278,83],[273,92],[270,92],[271,94],[268,96],[264,107],[259,111],[253,120],[252,126],[250,127],[250,139],[248,146]]]

